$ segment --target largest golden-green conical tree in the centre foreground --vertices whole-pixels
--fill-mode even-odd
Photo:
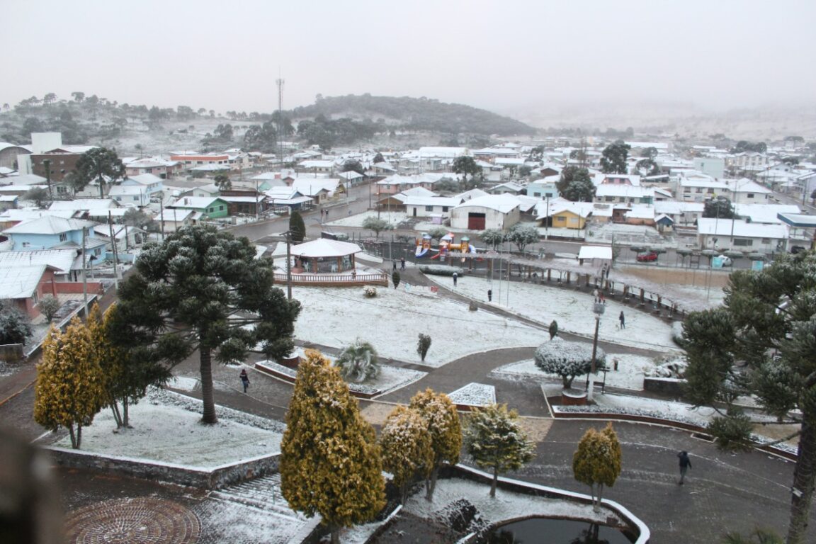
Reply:
[[[370,520],[385,505],[375,432],[348,385],[320,353],[298,366],[281,444],[281,491],[309,517],[320,514],[339,542],[339,529]]]

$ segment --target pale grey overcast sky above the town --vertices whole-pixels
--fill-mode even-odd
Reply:
[[[0,104],[55,92],[268,112],[324,96],[493,110],[816,102],[814,0],[2,2]]]

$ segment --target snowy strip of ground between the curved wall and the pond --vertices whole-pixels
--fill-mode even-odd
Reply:
[[[433,502],[425,500],[424,489],[411,496],[405,505],[405,511],[427,520],[432,520],[435,512],[440,511],[451,502],[466,499],[476,506],[487,523],[503,520],[541,515],[546,517],[571,517],[583,520],[597,520],[605,523],[607,517],[617,516],[603,507],[601,511],[592,511],[592,505],[561,499],[535,497],[523,493],[514,493],[506,489],[497,489],[495,498],[490,498],[490,486],[470,480],[451,478],[437,480],[433,492]]]

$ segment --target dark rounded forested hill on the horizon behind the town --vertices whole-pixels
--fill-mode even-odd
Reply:
[[[315,104],[295,108],[295,119],[351,117],[385,123],[392,129],[427,130],[447,134],[534,135],[525,123],[463,104],[446,104],[427,98],[347,95],[317,96]]]

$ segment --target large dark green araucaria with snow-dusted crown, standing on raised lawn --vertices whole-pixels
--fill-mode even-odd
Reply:
[[[173,365],[198,350],[204,423],[217,421],[213,356],[243,360],[260,344],[277,359],[294,347],[300,303],[273,285],[272,261],[255,259],[246,238],[211,226],[180,228],[145,245],[119,298],[117,337],[132,356]]]

